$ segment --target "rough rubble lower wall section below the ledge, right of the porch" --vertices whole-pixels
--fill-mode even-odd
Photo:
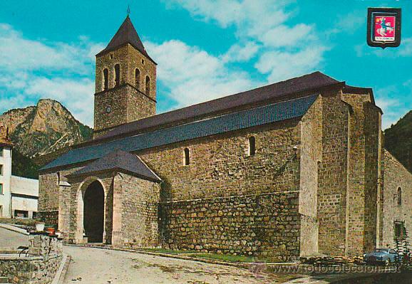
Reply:
[[[297,191],[288,191],[162,203],[163,246],[297,260],[298,199]]]

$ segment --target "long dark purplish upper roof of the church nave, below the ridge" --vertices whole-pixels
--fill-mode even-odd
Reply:
[[[124,136],[128,133],[140,132],[140,130],[145,128],[165,125],[179,120],[187,120],[192,117],[207,115],[212,112],[222,112],[234,107],[240,107],[242,105],[282,98],[287,95],[294,95],[295,93],[299,93],[304,90],[313,90],[328,85],[334,85],[336,83],[340,82],[317,71],[301,77],[274,83],[272,85],[266,85],[257,89],[237,93],[235,95],[229,95],[217,100],[210,100],[197,105],[191,105],[190,107],[183,107],[179,110],[172,110],[170,112],[164,112],[160,115],[153,115],[151,117],[143,118],[142,120],[129,122],[110,130],[105,135],[96,138],[95,141],[107,140],[110,137],[116,137],[119,135]]]

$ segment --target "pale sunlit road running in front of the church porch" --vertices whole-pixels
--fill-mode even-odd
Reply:
[[[72,256],[64,283],[274,283],[248,270],[140,253],[65,246]]]

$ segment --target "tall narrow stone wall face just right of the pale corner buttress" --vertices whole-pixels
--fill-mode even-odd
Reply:
[[[339,92],[322,96],[322,158],[319,163],[319,252],[344,255],[349,107]]]

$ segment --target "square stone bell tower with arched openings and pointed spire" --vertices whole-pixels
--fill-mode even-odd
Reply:
[[[108,46],[96,55],[93,137],[155,115],[156,65],[127,16]]]

